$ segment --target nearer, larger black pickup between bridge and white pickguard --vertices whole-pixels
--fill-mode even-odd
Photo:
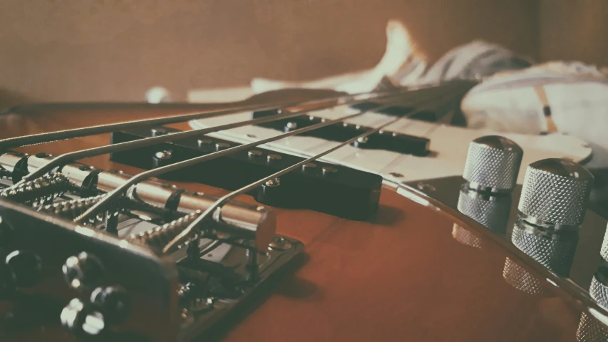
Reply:
[[[112,133],[112,143],[150,138],[157,128]],[[168,134],[179,132],[163,128]],[[207,155],[238,144],[203,135],[133,150],[114,152],[110,159],[150,170]],[[166,173],[165,180],[199,182],[237,190],[284,170],[305,158],[252,147],[197,165]],[[311,209],[347,219],[366,220],[378,209],[382,177],[328,162],[314,161],[249,192],[258,202],[274,207]]]

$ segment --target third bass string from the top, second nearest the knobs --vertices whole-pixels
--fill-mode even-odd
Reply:
[[[428,100],[432,100],[432,99],[428,99]],[[426,101],[425,101],[426,102]],[[389,105],[382,105],[381,108],[386,108]],[[188,167],[191,165],[196,165],[200,162],[205,162],[207,160],[212,160],[215,159],[217,157],[222,157],[223,155],[229,155],[233,152],[237,152],[239,150],[246,150],[249,147],[255,147],[257,145],[262,145],[266,142],[271,142],[274,140],[279,140],[282,138],[287,138],[289,136],[292,135],[297,135],[300,133],[305,133],[308,132],[310,130],[316,130],[318,128],[322,128],[325,127],[327,125],[333,125],[334,123],[339,123],[343,120],[346,120],[348,118],[354,118],[355,116],[358,115],[363,115],[364,113],[369,112],[370,110],[379,110],[381,108],[370,108],[369,110],[363,110],[360,113],[356,113],[353,115],[348,115],[346,117],[342,117],[339,119],[335,119],[335,120],[327,120],[324,123],[318,123],[316,125],[311,125],[305,128],[299,128],[298,130],[292,130],[291,132],[288,133],[283,133],[281,135],[275,135],[274,137],[271,138],[267,138],[267,139],[263,139],[263,140],[257,140],[255,142],[250,142],[248,144],[244,144],[244,145],[239,145],[236,147],[230,147],[227,148],[226,150],[221,150],[221,151],[217,151],[217,152],[213,152],[209,155],[203,155],[200,157],[195,157],[195,158],[191,158],[189,160],[184,160],[182,162],[176,162],[174,164],[171,165],[166,165],[163,167],[158,167],[156,169],[153,170],[148,170],[145,172],[142,172],[138,175],[135,175],[134,177],[131,177],[127,182],[123,183],[123,185],[120,185],[119,187],[117,187],[115,190],[112,190],[111,192],[108,192],[108,194],[101,199],[101,201],[97,202],[96,204],[94,204],[92,207],[90,207],[86,212],[84,212],[83,214],[81,214],[80,216],[76,217],[76,219],[74,219],[74,222],[83,222],[83,220],[88,219],[89,217],[91,217],[97,209],[99,209],[100,207],[102,207],[105,203],[109,202],[111,199],[115,199],[116,197],[120,196],[122,194],[122,192],[124,192],[125,190],[128,189],[128,187],[131,187],[132,185],[137,184],[138,182],[140,182],[141,180],[145,180],[146,178],[149,177],[156,177],[158,175],[163,175],[166,172],[171,172],[173,170],[178,170],[181,169],[182,167]],[[417,112],[419,112],[420,110],[413,110],[413,112],[408,113],[409,115],[413,115]],[[397,119],[401,119],[401,118],[397,118]]]

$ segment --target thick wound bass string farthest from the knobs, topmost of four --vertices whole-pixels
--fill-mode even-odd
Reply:
[[[454,82],[456,83],[456,82]],[[448,83],[443,83],[448,84]],[[409,91],[415,92],[416,90],[426,90],[428,88],[438,88],[441,86],[441,83],[420,86],[416,88],[406,88]],[[13,147],[22,147],[28,145],[36,145],[44,142],[52,142],[56,140],[64,140],[71,138],[83,137],[86,135],[96,135],[101,133],[110,133],[117,130],[127,130],[130,128],[138,128],[142,126],[152,126],[152,125],[168,125],[170,123],[180,123],[187,120],[195,120],[195,119],[203,119],[203,118],[215,118],[224,115],[236,114],[244,111],[262,111],[262,110],[277,110],[281,108],[289,108],[289,107],[297,107],[298,105],[314,105],[316,103],[324,103],[329,100],[337,100],[338,104],[346,104],[349,100],[354,100],[356,98],[362,97],[364,99],[371,100],[376,96],[381,96],[386,93],[394,93],[398,90],[376,90],[366,93],[356,93],[356,94],[347,94],[347,95],[336,95],[329,96],[327,98],[314,99],[314,100],[298,100],[291,101],[287,103],[270,103],[270,104],[254,104],[254,105],[243,105],[237,106],[235,108],[227,108],[221,110],[211,110],[204,113],[190,113],[190,114],[182,114],[182,115],[172,115],[164,118],[153,118],[153,119],[143,119],[143,120],[135,120],[135,121],[126,121],[123,123],[109,123],[105,125],[95,125],[88,126],[85,128],[73,128],[69,130],[58,130],[54,132],[46,132],[46,133],[36,133],[32,135],[21,135],[19,137],[14,138],[5,138],[0,140],[0,151],[8,150]],[[344,103],[341,103],[344,102]]]

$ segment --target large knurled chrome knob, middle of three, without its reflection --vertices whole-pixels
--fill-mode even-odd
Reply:
[[[587,210],[593,176],[570,160],[550,158],[528,165],[519,205],[532,224],[579,226]]]

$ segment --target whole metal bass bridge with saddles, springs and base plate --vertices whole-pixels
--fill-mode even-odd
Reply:
[[[7,175],[0,182],[0,250],[16,260],[0,265],[0,296],[15,308],[9,336],[44,326],[99,341],[193,341],[304,251],[302,242],[272,234],[269,209],[230,202],[221,222],[205,222],[176,252],[163,253],[197,209],[216,199],[152,181],[75,224],[131,176],[72,163],[13,186],[14,172],[27,175],[51,158],[0,155]],[[95,329],[86,326],[92,321]]]

